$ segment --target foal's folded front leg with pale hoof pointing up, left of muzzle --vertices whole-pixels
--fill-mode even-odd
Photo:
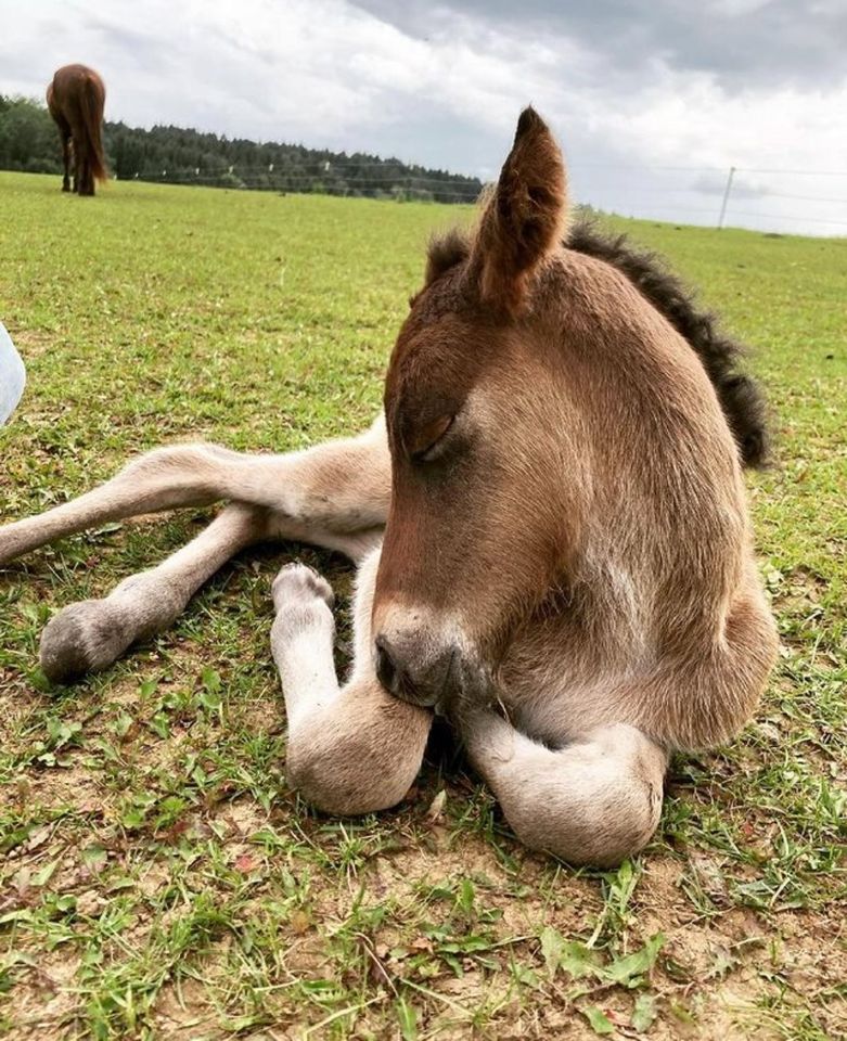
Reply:
[[[338,685],[333,664],[332,590],[315,571],[284,567],[273,583],[271,647],[288,720],[288,780],[328,813],[396,806],[423,760],[432,714],[392,697],[374,673],[371,606],[378,552],[360,566],[355,603],[356,655]]]

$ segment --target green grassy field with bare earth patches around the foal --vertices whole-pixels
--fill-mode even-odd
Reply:
[[[29,370],[0,519],[163,441],[362,427],[426,235],[469,216],[0,174],[0,318]],[[269,592],[297,555],[343,616],[343,561],[244,554],[172,631],[51,689],[51,613],[208,512],[36,552],[0,570],[0,1034],[845,1036],[847,240],[631,232],[755,348],[775,414],[778,463],[748,486],[783,646],[755,721],[675,762],[655,840],[616,872],[526,852],[455,764],[395,812],[322,818],[283,777]]]

